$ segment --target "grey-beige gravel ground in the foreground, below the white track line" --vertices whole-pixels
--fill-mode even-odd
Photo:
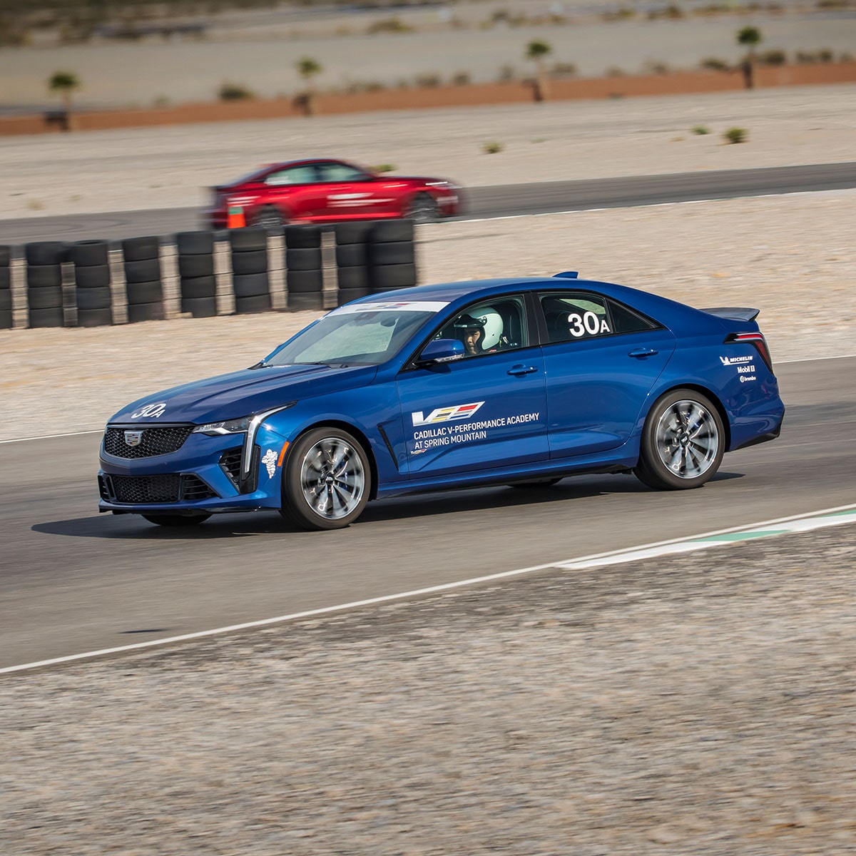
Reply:
[[[9,676],[0,851],[853,853],[854,568],[840,526]]]

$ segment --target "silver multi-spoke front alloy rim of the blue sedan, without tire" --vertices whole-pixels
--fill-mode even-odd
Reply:
[[[360,453],[342,437],[324,437],[300,464],[300,487],[315,514],[342,520],[360,505],[366,490]]]

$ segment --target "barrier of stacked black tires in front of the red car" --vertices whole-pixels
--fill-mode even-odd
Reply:
[[[300,312],[417,284],[412,220],[0,247],[0,329]]]

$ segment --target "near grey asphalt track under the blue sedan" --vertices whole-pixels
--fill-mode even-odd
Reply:
[[[854,502],[856,357],[776,371],[782,437],[727,455],[702,490],[616,475],[436,493],[374,502],[338,532],[276,513],[190,532],[99,515],[100,434],[0,444],[0,667]]]

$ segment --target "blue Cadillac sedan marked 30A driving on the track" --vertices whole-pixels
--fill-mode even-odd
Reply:
[[[757,315],[573,271],[354,300],[255,366],[123,407],[99,509],[191,526],[275,508],[323,530],[443,488],[631,471],[700,487],[782,428]]]

